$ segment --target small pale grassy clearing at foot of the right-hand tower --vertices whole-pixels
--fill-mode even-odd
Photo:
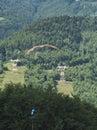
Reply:
[[[67,81],[58,81],[58,92],[59,93],[63,93],[65,95],[69,95],[72,97],[72,93],[73,93],[73,86],[71,82],[67,82]]]

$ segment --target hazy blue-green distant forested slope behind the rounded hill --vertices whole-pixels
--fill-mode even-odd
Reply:
[[[53,16],[96,16],[94,0],[0,0],[0,39],[39,19]]]

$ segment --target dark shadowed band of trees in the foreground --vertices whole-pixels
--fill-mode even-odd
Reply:
[[[0,91],[0,104],[0,130],[97,130],[97,109],[50,86],[9,84]]]

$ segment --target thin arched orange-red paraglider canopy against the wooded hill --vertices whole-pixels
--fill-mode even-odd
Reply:
[[[49,44],[43,44],[43,45],[38,45],[38,46],[34,46],[33,48],[29,49],[27,52],[26,52],[26,56],[30,54],[30,52],[38,49],[38,48],[43,48],[43,47],[51,47],[51,48],[54,48],[56,50],[60,50],[59,48],[57,48],[56,46],[53,46],[53,45],[49,45]]]

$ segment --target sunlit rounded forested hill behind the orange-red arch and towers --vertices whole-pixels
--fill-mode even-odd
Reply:
[[[21,59],[26,65],[25,83],[37,88],[53,87],[57,91],[58,64],[69,66],[66,80],[74,84],[74,94],[97,106],[97,18],[60,16],[33,23],[12,37],[0,42],[1,73],[3,62]],[[59,48],[38,48],[29,56],[25,53],[36,45],[50,44]],[[53,70],[53,71],[49,71]]]

